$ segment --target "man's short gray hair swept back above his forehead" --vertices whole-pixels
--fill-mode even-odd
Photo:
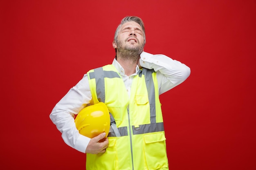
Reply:
[[[126,22],[130,22],[130,21],[134,21],[134,22],[137,22],[141,28],[142,28],[142,31],[143,31],[143,34],[144,34],[144,44],[146,43],[146,36],[145,36],[145,27],[144,27],[144,23],[143,21],[141,20],[141,18],[137,17],[137,16],[127,16],[125,18],[123,18],[121,20],[121,23],[119,24],[119,26],[117,26],[117,29],[115,31],[115,37],[114,37],[114,41],[117,42],[117,36],[118,36],[118,33],[120,31],[120,28],[121,26],[126,23]]]

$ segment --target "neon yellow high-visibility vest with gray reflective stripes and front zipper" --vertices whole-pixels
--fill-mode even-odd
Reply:
[[[88,79],[94,104],[106,104],[121,136],[110,130],[106,152],[87,154],[86,170],[168,170],[155,71],[139,70],[130,99],[112,64],[88,71]]]

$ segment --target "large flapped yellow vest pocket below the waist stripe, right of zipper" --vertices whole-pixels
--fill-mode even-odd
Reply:
[[[155,170],[168,167],[165,140],[164,132],[144,135],[144,156],[145,166],[147,166],[145,169]]]

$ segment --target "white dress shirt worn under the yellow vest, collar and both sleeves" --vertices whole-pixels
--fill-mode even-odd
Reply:
[[[190,75],[190,68],[177,60],[172,60],[165,55],[153,55],[142,52],[140,55],[140,65],[144,68],[154,69],[157,72],[159,95],[181,84]],[[136,72],[130,76],[125,75],[124,68],[113,60],[112,64],[120,73],[128,95],[132,79],[137,75]],[[79,134],[74,123],[74,114],[79,113],[92,100],[87,74],[67,92],[67,94],[56,104],[50,114],[50,119],[62,133],[65,143],[80,152],[85,153],[90,138]]]

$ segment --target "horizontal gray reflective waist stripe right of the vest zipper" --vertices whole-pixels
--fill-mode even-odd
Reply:
[[[155,124],[144,124],[139,125],[138,128],[132,126],[133,135],[139,135],[144,133],[152,133],[152,132],[162,132],[164,131],[164,123],[155,123]]]

